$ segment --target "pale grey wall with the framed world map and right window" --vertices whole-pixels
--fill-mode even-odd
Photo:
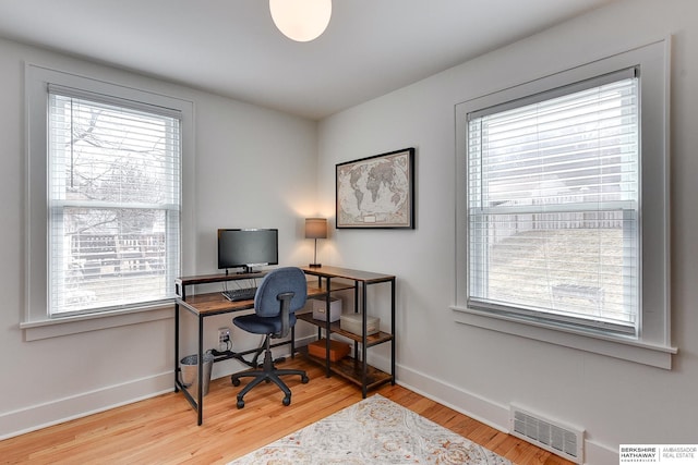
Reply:
[[[323,262],[398,277],[399,382],[502,429],[510,403],[580,427],[587,463],[617,463],[622,443],[698,442],[696,19],[693,0],[622,1],[321,122],[329,212],[335,163],[417,148],[417,229],[337,230],[320,252]],[[670,34],[673,369],[454,322],[454,106]],[[378,347],[374,363],[385,355]]]

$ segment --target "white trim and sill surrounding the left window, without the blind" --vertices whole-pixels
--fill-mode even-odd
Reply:
[[[47,108],[48,85],[57,84],[88,93],[112,95],[132,101],[144,101],[181,112],[181,261],[193,258],[195,234],[193,230],[193,167],[194,167],[194,107],[193,102],[176,97],[140,90],[119,84],[62,72],[40,65],[25,64],[26,96],[26,198],[25,198],[25,305],[20,328],[25,340],[37,340],[74,334],[92,330],[154,321],[172,317],[172,299],[123,309],[77,316],[48,316],[47,262],[48,221],[47,198]]]

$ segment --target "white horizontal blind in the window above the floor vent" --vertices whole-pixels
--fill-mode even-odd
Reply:
[[[635,69],[468,114],[468,306],[637,334]]]

